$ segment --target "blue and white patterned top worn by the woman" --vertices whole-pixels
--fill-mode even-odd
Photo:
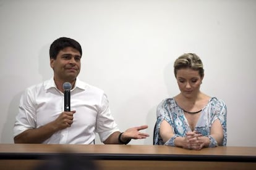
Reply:
[[[184,115],[184,112],[179,105],[177,105],[174,98],[163,100],[156,111],[157,121],[155,124],[154,145],[171,145],[174,146],[174,139],[178,136],[185,137],[186,133],[191,131],[189,123]],[[210,128],[216,119],[220,120],[223,127],[223,142],[222,145],[226,146],[227,142],[227,128],[226,128],[227,107],[222,100],[211,97],[207,105],[202,109],[200,118],[195,126],[195,131],[198,131],[203,136],[210,139],[209,147],[216,147],[218,143],[210,136]],[[171,127],[173,127],[174,136],[171,137],[166,143],[163,142],[160,136],[160,124],[166,120]]]

